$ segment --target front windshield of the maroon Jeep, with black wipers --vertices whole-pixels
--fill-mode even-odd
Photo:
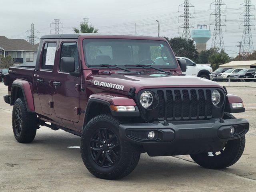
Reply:
[[[164,41],[84,39],[83,48],[87,66],[112,64],[134,68],[127,65],[148,64],[164,69],[177,68],[176,58],[168,43]],[[93,66],[93,68],[98,68],[98,66]]]

